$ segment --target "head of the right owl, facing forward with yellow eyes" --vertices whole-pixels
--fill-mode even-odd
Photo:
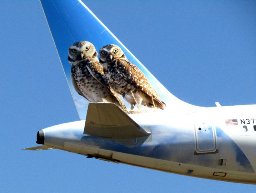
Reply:
[[[99,59],[102,62],[110,62],[120,58],[126,58],[122,49],[114,44],[104,45],[99,50]]]

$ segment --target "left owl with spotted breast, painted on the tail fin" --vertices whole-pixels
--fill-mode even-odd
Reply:
[[[68,48],[74,89],[90,102],[115,103],[126,111],[120,95],[109,86],[97,55],[94,45],[88,41],[78,41]]]

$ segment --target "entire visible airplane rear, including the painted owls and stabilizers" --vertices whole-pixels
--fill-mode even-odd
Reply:
[[[42,146],[26,150],[60,149],[181,175],[256,184],[256,105],[216,103],[206,108],[185,103],[81,0],[41,0],[41,5],[81,121],[38,131],[37,144]]]

